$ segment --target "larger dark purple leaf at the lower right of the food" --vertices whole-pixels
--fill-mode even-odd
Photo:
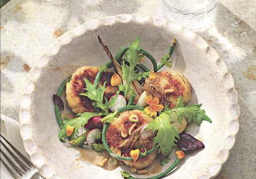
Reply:
[[[189,134],[180,133],[179,136],[180,136],[180,139],[176,138],[178,142],[175,142],[175,144],[181,150],[187,151],[192,149],[204,148],[203,142],[197,140],[196,138],[194,138]]]

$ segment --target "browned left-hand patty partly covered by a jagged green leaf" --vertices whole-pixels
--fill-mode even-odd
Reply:
[[[90,100],[87,96],[79,94],[87,92],[84,90],[84,88],[86,88],[84,78],[88,79],[93,84],[98,71],[98,67],[82,66],[73,73],[70,82],[67,83],[67,101],[73,113],[77,114],[84,112],[95,112],[92,100]],[[107,71],[104,72],[100,78],[99,86],[103,86],[104,82],[106,82],[106,90],[104,91],[103,98],[106,97],[106,99],[110,99],[110,97],[116,94],[116,91],[118,91],[117,86],[113,87],[110,84],[110,80],[113,74],[113,71]]]

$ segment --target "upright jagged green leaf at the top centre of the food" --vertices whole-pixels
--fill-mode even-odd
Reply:
[[[131,84],[133,81],[139,78],[139,74],[134,70],[135,66],[141,62],[141,59],[144,57],[140,53],[141,47],[140,37],[138,37],[133,43],[130,43],[129,49],[124,54],[126,57],[126,62],[129,62],[129,65],[125,64],[125,61],[122,63],[122,80],[123,84],[119,85],[119,90],[124,92],[124,97],[126,98],[128,94],[134,93],[131,89]]]

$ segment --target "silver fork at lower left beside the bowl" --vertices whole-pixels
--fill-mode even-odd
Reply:
[[[5,157],[5,159],[9,162],[9,165],[12,166],[14,170],[12,170],[9,165],[5,163],[5,161],[0,157],[1,162],[4,166],[11,172],[11,174],[15,178],[32,178],[39,179],[42,178],[40,176],[37,168],[22,154],[20,153],[5,137],[0,134],[0,142],[4,146],[4,148],[9,152],[10,156],[16,161],[16,164],[5,154],[5,152],[0,148],[1,154]],[[12,152],[10,148],[2,141],[4,141],[16,152],[16,155]],[[23,162],[17,157],[19,155],[20,158],[23,159]],[[18,164],[18,165],[17,165]]]

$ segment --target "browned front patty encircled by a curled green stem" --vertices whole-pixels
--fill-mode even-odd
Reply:
[[[130,116],[131,115],[137,115],[139,118],[139,121],[131,122]],[[131,157],[130,151],[137,149],[138,145],[142,145],[146,148],[146,150],[150,150],[153,148],[153,139],[142,139],[141,137],[138,138],[138,140],[133,144],[132,148],[128,147],[127,149],[123,150],[121,144],[126,140],[130,138],[129,130],[131,127],[136,123],[134,132],[136,129],[140,130],[139,127],[142,126],[145,123],[148,123],[152,121],[153,118],[146,115],[143,111],[140,110],[132,110],[132,111],[124,111],[120,113],[120,115],[115,119],[114,122],[109,124],[108,130],[106,131],[106,142],[108,142],[108,145],[110,146],[111,150],[122,157]],[[123,138],[121,136],[121,130],[124,129],[127,137]],[[138,132],[138,135],[140,135],[140,132]],[[132,135],[131,135],[132,136]],[[139,150],[141,152],[144,152],[144,148],[140,147]],[[123,161],[126,165],[130,165],[133,168],[136,169],[142,169],[152,164],[154,159],[157,156],[158,151],[152,152],[150,155],[147,155],[145,157],[142,157],[136,162],[134,161]]]

